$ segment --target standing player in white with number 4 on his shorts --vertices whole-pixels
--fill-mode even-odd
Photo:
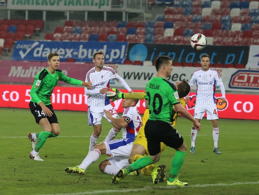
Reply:
[[[207,113],[207,120],[212,121],[212,137],[214,140],[214,149],[213,152],[216,154],[221,154],[218,148],[218,139],[219,139],[219,126],[218,126],[218,110],[215,101],[215,84],[220,87],[222,97],[219,100],[222,103],[226,102],[225,97],[225,87],[221,80],[221,77],[217,70],[210,69],[210,57],[207,54],[201,56],[201,65],[202,68],[194,71],[190,80],[190,87],[197,84],[196,91],[196,103],[194,107],[194,118],[198,122],[203,118],[205,111]],[[189,101],[189,97],[185,98],[185,101]],[[195,140],[197,137],[197,129],[192,126],[191,130],[191,153],[195,153]]]

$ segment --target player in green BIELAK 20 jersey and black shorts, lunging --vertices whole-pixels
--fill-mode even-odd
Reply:
[[[174,109],[177,112],[192,121],[198,131],[201,125],[181,106],[176,87],[167,80],[167,77],[171,75],[171,71],[173,70],[172,59],[167,56],[159,56],[156,59],[155,67],[157,76],[147,83],[145,97],[146,108],[150,110],[150,116],[144,128],[150,156],[140,158],[125,169],[120,169],[113,176],[112,183],[118,183],[130,172],[158,162],[161,155],[160,142],[163,142],[165,145],[176,150],[167,185],[188,185],[188,183],[179,181],[177,177],[185,158],[187,146],[180,133],[169,123],[172,116],[172,106],[174,105]]]

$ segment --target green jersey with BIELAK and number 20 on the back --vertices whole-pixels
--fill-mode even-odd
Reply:
[[[174,84],[163,77],[154,77],[146,85],[145,99],[149,102],[149,120],[170,122],[172,107],[179,104]]]

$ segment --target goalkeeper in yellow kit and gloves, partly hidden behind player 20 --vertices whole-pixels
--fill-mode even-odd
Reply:
[[[175,83],[175,87],[177,88],[179,94],[179,100],[183,107],[185,107],[185,97],[190,92],[189,84],[183,80]],[[134,93],[122,93],[118,89],[112,89],[115,93],[108,94],[107,97],[112,99],[112,101],[118,99],[145,99],[146,92],[134,92]],[[171,118],[171,125],[174,127],[175,122],[179,116],[179,113],[173,109],[173,114]],[[148,156],[149,152],[147,149],[147,139],[145,137],[144,128],[149,117],[149,109],[146,109],[144,115],[142,117],[142,127],[139,130],[139,133],[136,135],[136,138],[133,142],[133,146],[131,148],[129,163],[135,162],[137,159],[142,158],[143,156]],[[165,144],[161,142],[161,152],[164,151]],[[158,182],[163,182],[165,180],[165,165],[149,165],[140,170],[142,175],[152,176],[153,183],[157,184]]]

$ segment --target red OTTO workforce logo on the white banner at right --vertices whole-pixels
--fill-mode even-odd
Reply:
[[[259,90],[258,70],[237,70],[231,75],[229,88]]]

